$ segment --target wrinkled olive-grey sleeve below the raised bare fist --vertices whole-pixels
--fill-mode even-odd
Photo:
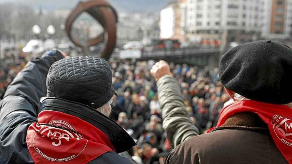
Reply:
[[[162,109],[163,129],[171,147],[199,135],[198,128],[187,114],[180,86],[172,76],[163,76],[157,81],[159,103]]]

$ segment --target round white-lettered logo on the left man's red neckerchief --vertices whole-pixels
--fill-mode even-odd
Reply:
[[[48,125],[36,125],[39,133],[34,135],[33,147],[39,155],[47,160],[62,162],[72,160],[84,151],[88,140],[81,140],[83,136],[69,123],[53,120]],[[79,144],[73,144],[74,141],[78,141]],[[73,149],[68,150],[68,148]],[[54,149],[63,149],[64,152],[62,155],[55,154],[50,151]]]

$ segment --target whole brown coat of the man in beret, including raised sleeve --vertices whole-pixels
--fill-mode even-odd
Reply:
[[[171,76],[157,82],[163,128],[174,148],[165,164],[286,164],[260,118],[239,113],[220,128],[199,135],[183,104],[180,87]]]

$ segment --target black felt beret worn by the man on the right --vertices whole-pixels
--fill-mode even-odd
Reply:
[[[232,48],[219,62],[224,87],[250,100],[292,102],[292,49],[277,41],[254,41]]]

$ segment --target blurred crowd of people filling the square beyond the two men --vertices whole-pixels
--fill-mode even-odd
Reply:
[[[0,69],[0,98],[8,84],[27,63],[21,50],[5,52]],[[137,163],[162,163],[171,146],[162,128],[157,87],[150,69],[155,62],[111,60],[113,85],[118,93],[110,117],[138,140],[129,153]],[[201,133],[216,125],[223,104],[229,100],[218,79],[218,69],[170,63],[178,80],[187,112]]]

